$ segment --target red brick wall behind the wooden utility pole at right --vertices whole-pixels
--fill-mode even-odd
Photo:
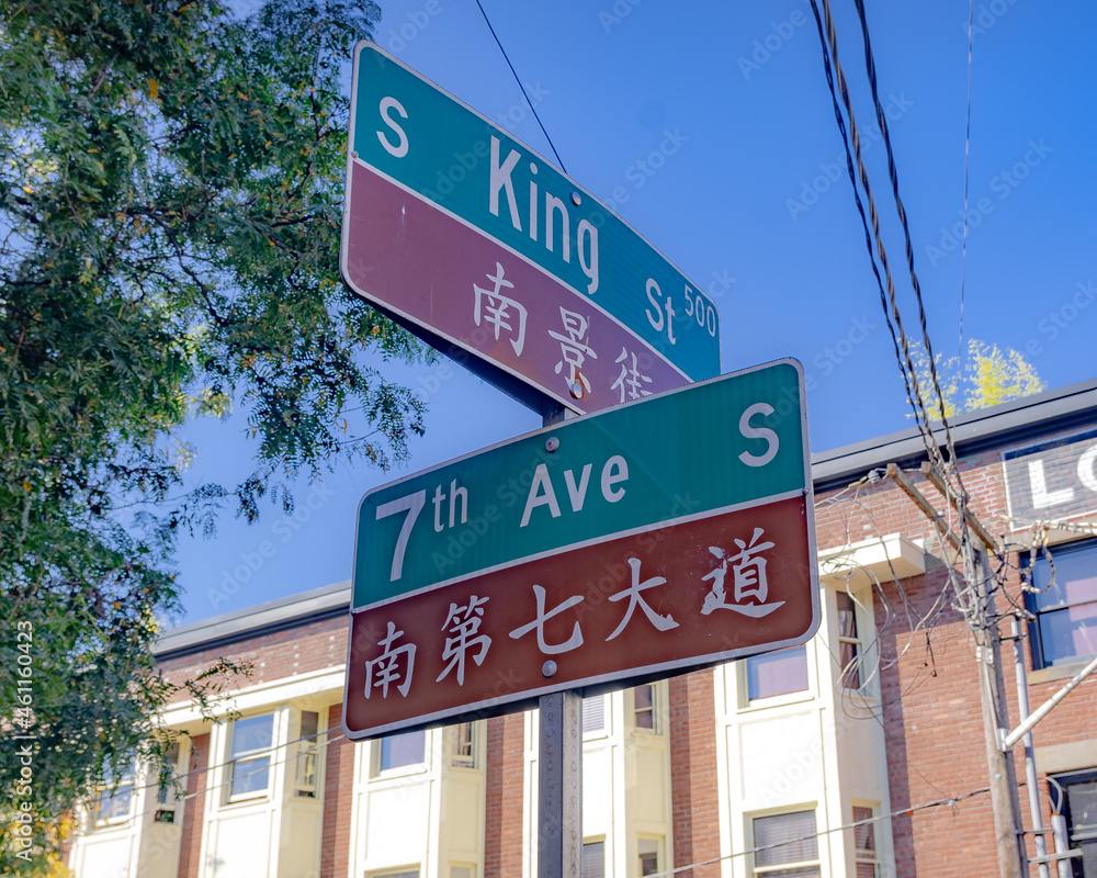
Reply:
[[[919,474],[908,474],[915,485],[948,517],[941,495]],[[1002,541],[1008,530],[1005,484],[997,450],[966,458],[961,476],[980,521]],[[816,500],[825,499],[819,495]],[[953,518],[954,520],[954,518]],[[845,495],[835,506],[816,509],[819,549],[858,542],[869,537],[902,532],[911,538],[936,531],[914,502],[892,481]],[[1017,547],[1013,547],[1015,550]],[[1016,551],[1008,562],[1018,564]],[[1022,605],[1019,575],[1007,577],[1006,592]],[[968,622],[953,609],[953,590],[947,572],[883,582],[875,592],[875,623],[881,657],[880,689],[887,754],[891,809],[917,809],[929,801],[962,796],[987,786],[986,745],[975,662],[974,640]],[[1009,609],[999,593],[998,611]],[[1025,633],[1027,634],[1027,627]],[[1000,623],[1009,633],[1008,620]],[[1028,639],[1026,664],[1031,667]],[[1014,648],[1007,642],[1000,655],[1009,725],[1018,723]],[[1030,687],[1032,707],[1040,705],[1062,682]],[[1097,687],[1061,703],[1036,729],[1038,746],[1097,738]],[[1018,780],[1024,784],[1024,751],[1014,754]],[[1040,778],[1047,814],[1047,781]],[[1021,821],[1031,825],[1027,790],[1020,787]],[[1047,825],[1047,817],[1045,817]],[[988,793],[954,807],[915,810],[892,821],[896,870],[900,876],[952,875],[963,863],[964,875],[997,875],[993,815]],[[1029,852],[1034,853],[1031,838]]]

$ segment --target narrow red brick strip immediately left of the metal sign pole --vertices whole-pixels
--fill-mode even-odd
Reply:
[[[484,878],[522,874],[525,714],[487,721]]]

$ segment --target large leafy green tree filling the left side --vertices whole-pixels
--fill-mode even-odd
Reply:
[[[150,648],[178,605],[178,536],[225,506],[255,519],[264,494],[290,509],[297,473],[387,466],[422,432],[420,402],[370,365],[421,349],[338,271],[344,82],[377,15],[0,4],[0,727],[35,739],[14,801],[42,818],[36,851],[172,695]],[[231,399],[256,471],[183,492],[172,430]],[[16,714],[21,654],[32,713]]]

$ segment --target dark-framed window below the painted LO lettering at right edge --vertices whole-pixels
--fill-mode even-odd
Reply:
[[[1037,617],[1029,629],[1034,666],[1097,653],[1097,543],[1056,549],[1050,560],[1038,559],[1027,600]]]

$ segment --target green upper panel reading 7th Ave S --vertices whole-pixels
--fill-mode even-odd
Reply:
[[[810,493],[803,412],[803,370],[782,360],[376,488],[359,508],[353,607]]]

